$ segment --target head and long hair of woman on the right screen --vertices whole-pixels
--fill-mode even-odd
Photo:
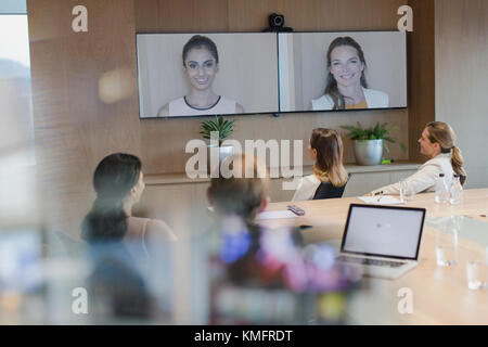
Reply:
[[[349,36],[338,37],[331,42],[326,53],[328,78],[325,94],[334,101],[334,110],[345,108],[339,87],[361,86],[367,88],[364,52]]]

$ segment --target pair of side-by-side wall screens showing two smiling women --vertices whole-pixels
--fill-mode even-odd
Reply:
[[[138,34],[140,118],[407,107],[399,31]]]

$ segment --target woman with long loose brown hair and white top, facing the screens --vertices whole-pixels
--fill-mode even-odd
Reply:
[[[349,179],[343,165],[343,141],[335,130],[317,128],[312,130],[308,153],[314,162],[313,175],[301,179],[292,201],[312,200],[322,182],[344,187]]]

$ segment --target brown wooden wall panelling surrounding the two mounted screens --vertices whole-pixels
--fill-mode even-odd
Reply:
[[[412,154],[412,149],[416,151],[416,134],[409,134],[412,119],[425,124],[434,103],[428,97],[433,52],[424,49],[433,33],[427,18],[434,13],[423,3],[431,1],[409,1],[422,3],[420,16],[426,18],[421,26],[414,22],[414,33],[409,34],[409,83],[416,86],[409,92],[409,110],[235,116],[233,138],[303,139],[306,143],[318,126],[337,129],[344,124],[369,126],[380,120],[399,125],[396,134],[410,143]],[[136,33],[260,31],[272,12],[283,13],[286,25],[295,30],[395,30],[397,9],[404,2],[28,0],[36,155],[47,221],[55,221],[56,228],[73,235],[79,233],[93,200],[91,175],[110,153],[139,155],[147,174],[184,170],[184,144],[198,138],[205,118],[138,119]],[[88,33],[72,30],[72,9],[77,4],[88,9]],[[346,162],[354,162],[348,141],[345,147]],[[408,158],[398,146],[391,150],[394,158]],[[304,158],[304,164],[310,164],[307,155]]]

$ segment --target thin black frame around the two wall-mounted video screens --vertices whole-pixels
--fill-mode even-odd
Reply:
[[[139,52],[138,52],[138,36],[140,35],[211,35],[211,34],[274,34],[275,35],[275,41],[277,41],[277,72],[278,72],[278,78],[277,78],[277,89],[278,89],[278,111],[277,112],[258,112],[258,113],[231,113],[231,114],[223,114],[224,117],[233,117],[233,116],[253,116],[253,115],[273,115],[274,117],[279,117],[281,114],[318,114],[318,113],[348,113],[348,112],[369,112],[369,111],[390,111],[390,110],[408,110],[409,107],[409,64],[408,64],[408,38],[407,33],[401,33],[406,36],[404,39],[404,53],[406,53],[406,90],[407,90],[407,102],[406,106],[398,106],[398,107],[380,107],[380,108],[352,108],[352,110],[306,110],[306,111],[281,111],[281,100],[280,100],[280,46],[279,46],[279,35],[290,35],[290,34],[334,34],[334,33],[401,33],[398,30],[305,30],[305,31],[286,31],[286,33],[264,33],[264,31],[175,31],[175,33],[157,33],[157,31],[138,31],[136,33],[136,68],[137,68],[137,83],[138,83],[138,113],[139,113],[139,119],[181,119],[181,118],[205,118],[205,117],[214,117],[215,115],[189,115],[189,116],[171,116],[171,117],[141,117],[141,94],[139,92],[140,86],[139,86],[139,79],[140,79],[140,72],[139,72]]]

